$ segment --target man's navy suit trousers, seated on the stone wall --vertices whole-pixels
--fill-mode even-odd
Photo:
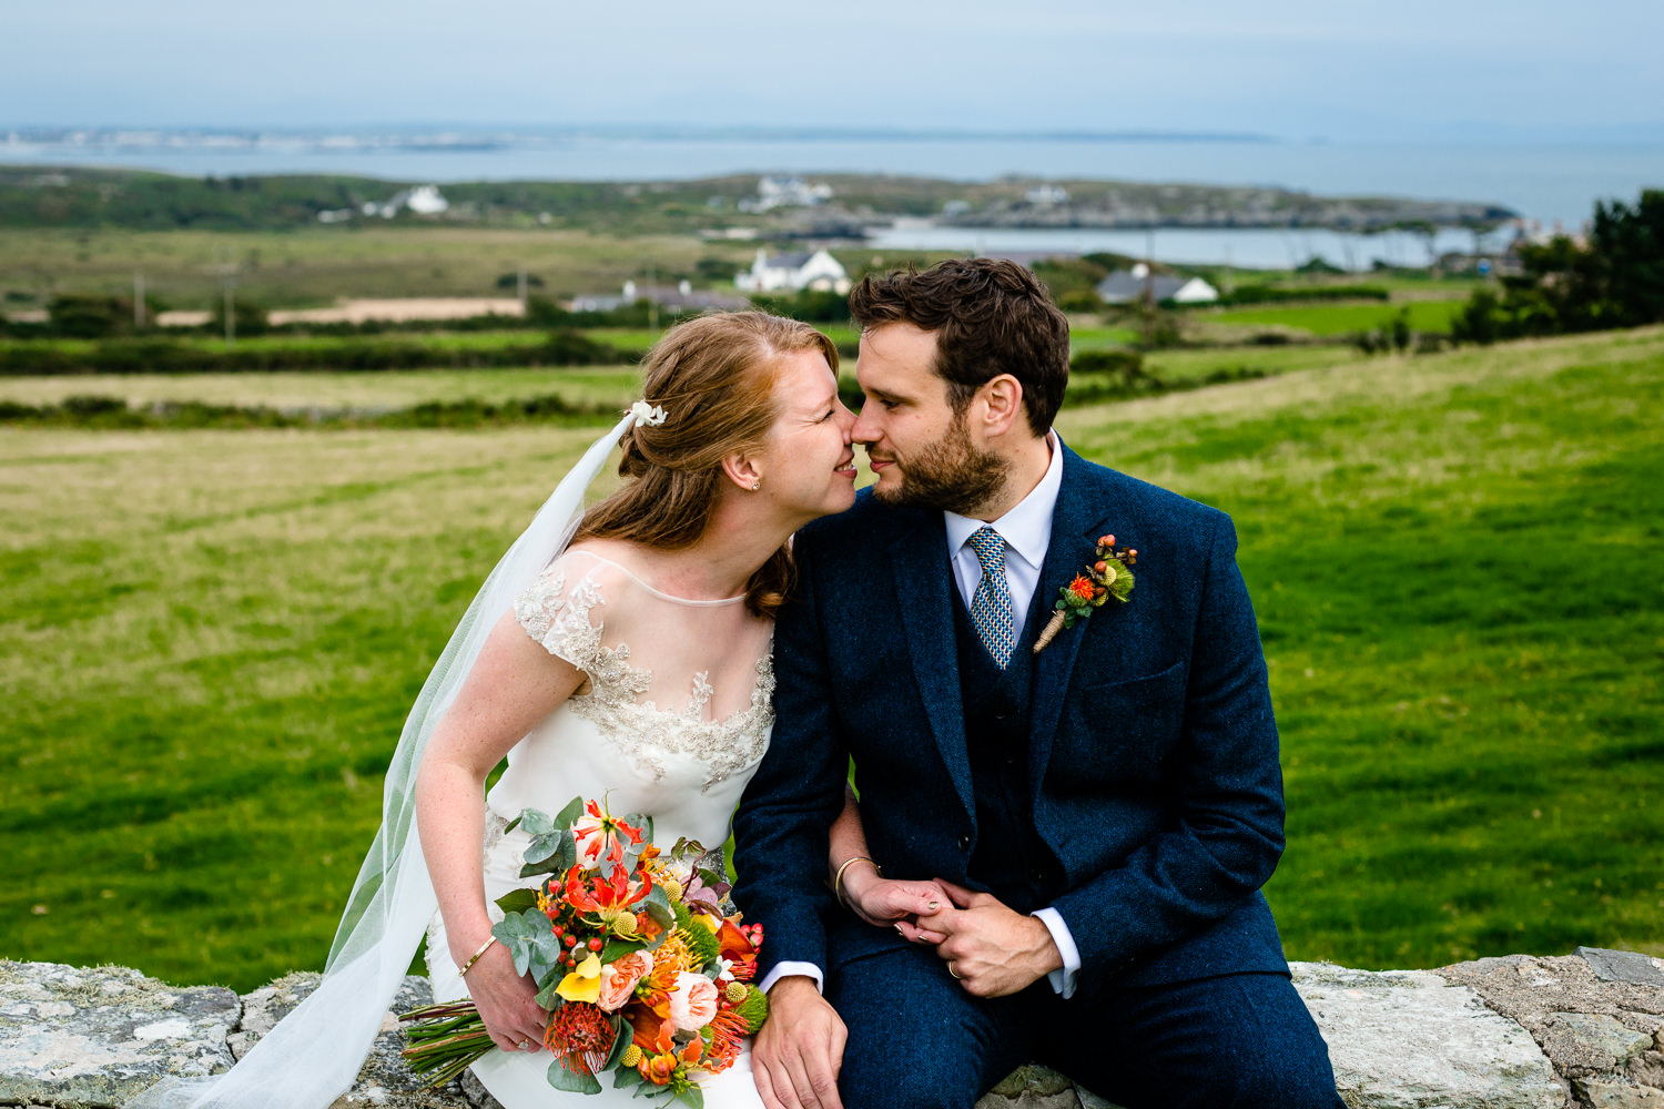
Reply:
[[[932,948],[839,966],[847,1109],[970,1109],[1045,1062],[1125,1109],[1345,1109],[1328,1047],[1285,974],[1221,974],[1063,999],[1047,979],[967,994]]]

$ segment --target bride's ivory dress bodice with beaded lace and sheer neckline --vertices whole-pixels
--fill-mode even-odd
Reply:
[[[589,550],[551,564],[514,615],[586,682],[509,752],[491,808],[609,793],[614,811],[652,813],[659,840],[726,840],[774,725],[769,624],[742,597],[674,597]]]

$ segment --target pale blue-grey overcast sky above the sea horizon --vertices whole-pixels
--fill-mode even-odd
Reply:
[[[1659,0],[0,0],[0,125],[1664,141]]]

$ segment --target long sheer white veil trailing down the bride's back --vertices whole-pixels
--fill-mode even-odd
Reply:
[[[324,1109],[353,1084],[438,906],[414,835],[413,791],[428,738],[498,617],[572,537],[584,490],[619,439],[631,427],[662,421],[664,409],[637,401],[567,472],[468,605],[404,720],[383,788],[381,830],[358,871],[318,989],[225,1074],[165,1079],[126,1109]]]

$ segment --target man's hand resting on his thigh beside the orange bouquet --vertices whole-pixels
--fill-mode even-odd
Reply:
[[[787,974],[769,988],[769,1019],[750,1049],[767,1109],[842,1109],[837,1072],[849,1031],[812,978]]]

